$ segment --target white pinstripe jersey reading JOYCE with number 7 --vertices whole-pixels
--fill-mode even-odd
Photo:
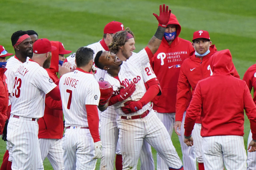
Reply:
[[[99,104],[99,84],[93,75],[77,68],[59,80],[65,126],[88,127],[85,105]]]

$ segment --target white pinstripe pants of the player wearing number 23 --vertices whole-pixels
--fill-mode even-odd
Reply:
[[[43,169],[38,142],[38,123],[31,118],[13,118],[7,126],[7,140],[12,147],[13,170]]]

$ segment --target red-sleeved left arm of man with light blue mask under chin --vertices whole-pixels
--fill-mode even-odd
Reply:
[[[175,123],[174,130],[177,135],[181,135],[178,131],[181,130],[181,122],[183,119],[183,114],[186,110],[188,103],[188,98],[192,96],[190,83],[183,71],[183,68],[186,67],[184,64],[181,65],[181,71],[179,72],[179,79],[177,84],[177,98],[176,98],[176,112],[175,112]]]

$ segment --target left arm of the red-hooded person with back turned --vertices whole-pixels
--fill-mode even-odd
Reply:
[[[193,145],[192,143],[193,138],[191,138],[191,134],[192,134],[192,130],[194,129],[195,120],[197,119],[199,113],[201,112],[201,108],[202,108],[201,86],[200,86],[200,83],[198,83],[195,88],[192,100],[187,109],[185,123],[184,123],[184,129],[185,129],[184,142],[187,145],[189,144],[188,146]],[[191,141],[191,143],[188,141]]]

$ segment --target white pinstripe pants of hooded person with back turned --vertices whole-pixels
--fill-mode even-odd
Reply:
[[[203,137],[205,170],[246,170],[246,151],[242,136]]]

